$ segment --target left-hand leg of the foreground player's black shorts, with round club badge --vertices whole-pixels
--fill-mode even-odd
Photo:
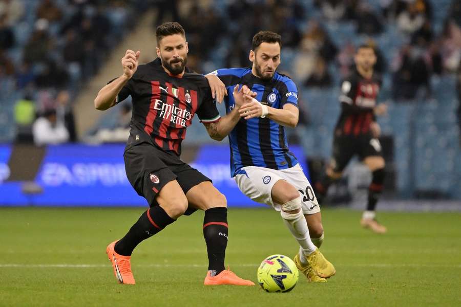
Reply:
[[[128,181],[149,206],[156,206],[157,195],[163,187],[176,179],[173,171],[159,159],[152,145],[137,145],[123,155]]]

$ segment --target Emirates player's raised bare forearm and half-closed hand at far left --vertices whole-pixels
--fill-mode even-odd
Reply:
[[[118,93],[122,87],[127,84],[128,80],[133,77],[138,68],[138,59],[140,51],[134,52],[127,50],[125,55],[121,58],[123,74],[109,84],[102,87],[98,95],[94,99],[94,107],[98,110],[107,110],[115,105]]]

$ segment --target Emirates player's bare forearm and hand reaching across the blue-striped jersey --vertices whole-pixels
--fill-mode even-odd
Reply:
[[[231,133],[232,129],[234,129],[235,125],[240,120],[240,114],[238,111],[241,105],[246,101],[249,101],[249,99],[252,99],[252,96],[256,96],[256,93],[249,90],[246,85],[241,86],[239,89],[239,84],[235,85],[234,92],[232,94],[234,95],[235,100],[235,105],[232,111],[226,116],[221,117],[218,122],[204,123],[208,135],[213,140],[222,141],[229,133]]]

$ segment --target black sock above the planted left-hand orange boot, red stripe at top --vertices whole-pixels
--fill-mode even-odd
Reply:
[[[131,256],[135,247],[142,240],[153,236],[174,221],[176,220],[166,214],[162,207],[149,208],[141,214],[138,221],[130,228],[130,231],[115,244],[115,252],[122,256]]]

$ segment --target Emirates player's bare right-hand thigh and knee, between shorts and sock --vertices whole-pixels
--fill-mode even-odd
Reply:
[[[209,181],[193,186],[186,193],[189,207],[207,210],[216,207],[227,207],[226,197]]]

